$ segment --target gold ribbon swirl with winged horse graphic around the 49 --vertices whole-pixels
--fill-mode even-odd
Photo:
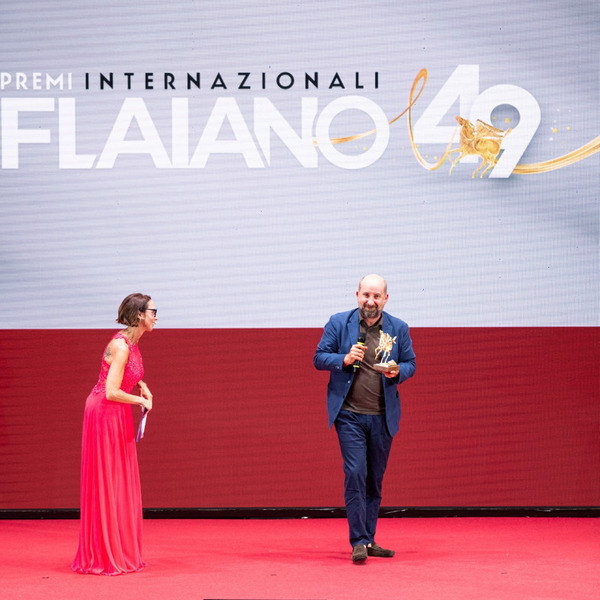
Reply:
[[[421,87],[418,93],[415,95],[415,91],[417,86],[421,83]],[[408,97],[408,106],[397,116],[394,117],[388,123],[391,125],[395,123],[400,117],[403,117],[405,114],[408,114],[408,138],[410,140],[410,145],[415,155],[415,158],[419,162],[421,166],[429,171],[435,171],[439,169],[442,164],[446,161],[446,159],[453,153],[459,152],[458,158],[452,161],[452,167],[450,169],[450,173],[452,173],[452,169],[456,166],[456,164],[460,161],[460,159],[466,154],[478,154],[482,158],[482,163],[479,165],[477,169],[473,172],[473,177],[477,174],[477,172],[487,165],[485,170],[482,171],[481,177],[485,175],[492,167],[496,165],[497,156],[500,153],[500,145],[502,143],[502,138],[510,133],[510,129],[507,131],[502,131],[484,123],[482,121],[477,121],[477,129],[467,121],[467,119],[463,119],[460,116],[457,116],[456,119],[458,121],[458,125],[450,138],[450,142],[442,154],[441,158],[435,162],[430,163],[427,162],[417,147],[415,143],[413,128],[412,128],[412,118],[411,118],[411,110],[412,107],[416,104],[417,100],[423,93],[425,89],[425,84],[427,83],[427,69],[421,69],[417,76],[415,77],[412,87],[410,89],[410,94]],[[470,129],[467,129],[470,126]],[[459,148],[452,149],[452,144],[454,143],[454,138],[456,134],[461,131],[461,137],[463,138],[460,143]],[[369,135],[373,135],[377,132],[377,129],[372,129],[371,131],[365,131],[364,133],[359,133],[356,135],[350,135],[346,137],[332,138],[332,144],[344,144],[346,142],[351,142],[354,140],[358,140]],[[471,136],[470,139],[465,139],[463,137],[463,132],[467,134],[465,137]],[[317,141],[314,141],[315,146],[318,145]],[[518,164],[512,171],[512,173],[517,175],[533,175],[535,173],[546,173],[548,171],[554,171],[556,169],[561,169],[563,167],[567,167],[572,165],[580,160],[584,160],[585,158],[589,158],[593,154],[600,152],[600,136],[594,138],[591,142],[588,142],[581,148],[577,150],[573,150],[568,154],[563,156],[559,156],[558,158],[553,158],[551,160],[547,160],[539,163],[532,164]]]

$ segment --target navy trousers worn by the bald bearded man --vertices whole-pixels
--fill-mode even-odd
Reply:
[[[335,429],[344,460],[344,501],[350,545],[375,540],[381,485],[392,447],[384,415],[340,411]]]

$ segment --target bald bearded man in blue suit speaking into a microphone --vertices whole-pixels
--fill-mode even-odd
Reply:
[[[408,325],[383,311],[389,297],[385,280],[363,277],[356,297],[358,308],[333,315],[325,325],[314,365],[330,372],[329,426],[335,424],[342,451],[352,560],[359,563],[394,555],[375,543],[375,529],[383,474],[399,428],[398,384],[412,377],[416,364]],[[395,365],[383,373],[374,368],[380,332],[394,340],[387,361]]]

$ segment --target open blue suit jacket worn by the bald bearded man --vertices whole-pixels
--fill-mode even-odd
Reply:
[[[348,354],[353,344],[356,344],[359,334],[360,316],[358,308],[348,312],[333,315],[323,330],[323,337],[317,346],[313,359],[317,369],[330,371],[327,386],[327,413],[329,427],[335,422],[352,381],[354,368],[344,367],[344,356]],[[400,424],[400,396],[398,384],[412,377],[416,370],[415,353],[409,336],[408,325],[384,312],[382,330],[396,337],[396,343],[388,360],[394,360],[400,367],[397,377],[388,378],[381,375],[385,395],[385,418],[390,435],[398,433]]]

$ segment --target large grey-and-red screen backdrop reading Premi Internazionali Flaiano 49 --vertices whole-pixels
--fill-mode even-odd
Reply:
[[[152,295],[146,506],[341,505],[312,354],[387,281],[391,506],[600,500],[597,3],[5,2],[0,508],[78,503]]]

